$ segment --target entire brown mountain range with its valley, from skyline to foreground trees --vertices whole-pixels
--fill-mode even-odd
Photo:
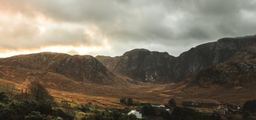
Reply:
[[[177,57],[134,49],[115,57],[41,52],[0,58],[1,83],[25,88],[39,80],[55,98],[106,106],[120,107],[113,102],[121,97],[147,102],[201,98],[241,105],[255,98],[255,78],[256,35],[222,38]]]

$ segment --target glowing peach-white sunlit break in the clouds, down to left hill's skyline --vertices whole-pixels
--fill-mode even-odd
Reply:
[[[41,14],[31,19],[19,13],[1,15],[0,21],[5,21],[0,23],[0,57],[45,51],[83,55],[111,49],[108,39],[98,35],[96,25],[54,22]]]

